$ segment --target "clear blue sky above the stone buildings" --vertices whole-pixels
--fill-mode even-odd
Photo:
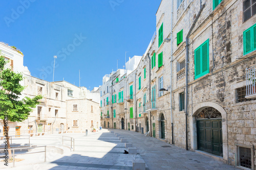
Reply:
[[[1,1],[0,41],[24,54],[31,75],[92,90],[127,58],[143,55],[161,0]],[[4,8],[3,8],[4,7]]]

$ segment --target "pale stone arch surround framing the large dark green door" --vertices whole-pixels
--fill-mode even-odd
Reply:
[[[217,103],[214,102],[203,102],[193,106],[193,113],[190,113],[190,140],[191,149],[198,150],[198,136],[197,136],[197,116],[205,108],[212,107],[221,113],[221,123],[222,123],[222,149],[223,149],[223,159],[228,159],[228,147],[227,147],[227,113],[225,109]],[[195,111],[194,111],[195,110]]]

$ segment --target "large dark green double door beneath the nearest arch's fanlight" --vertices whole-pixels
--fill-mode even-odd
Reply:
[[[198,149],[223,156],[222,119],[197,120]]]

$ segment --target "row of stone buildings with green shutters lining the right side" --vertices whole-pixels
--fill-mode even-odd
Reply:
[[[115,126],[108,127],[143,128],[178,147],[256,169],[254,3],[163,0],[156,35],[137,68],[113,85],[113,94],[123,90],[128,98],[109,106],[125,110],[116,109]]]

